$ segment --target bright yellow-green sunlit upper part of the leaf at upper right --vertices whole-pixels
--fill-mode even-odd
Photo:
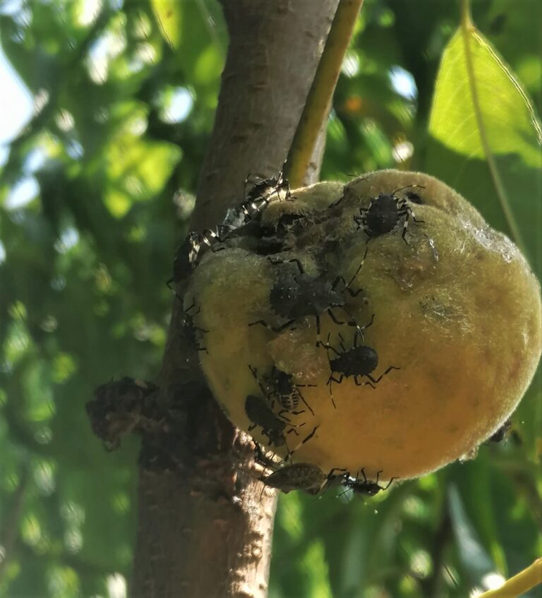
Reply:
[[[534,107],[502,58],[476,30],[459,30],[442,56],[429,132],[445,147],[469,158],[486,157],[481,137],[487,136],[491,153],[515,153],[528,166],[542,165],[542,128]]]

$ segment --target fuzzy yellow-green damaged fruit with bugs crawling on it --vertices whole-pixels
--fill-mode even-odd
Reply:
[[[390,232],[369,235],[363,210],[394,191],[409,210]],[[284,426],[287,447],[296,449],[293,462],[405,479],[475,450],[510,417],[541,354],[540,288],[525,258],[462,196],[426,174],[373,172],[292,195],[261,216],[260,236],[273,239],[265,247],[275,253],[262,251],[258,233],[232,237],[224,251],[203,256],[185,297],[185,306],[194,301],[199,308],[195,324],[208,331],[201,366],[231,421],[248,431],[246,397],[265,397],[258,376],[275,366],[295,384],[314,385],[299,388],[314,414],[304,407],[280,416],[293,424]],[[369,378],[360,376],[356,385],[349,376],[332,382],[330,392],[337,354],[317,346],[314,316],[296,318],[280,332],[251,325],[263,320],[279,328],[288,321],[270,296],[284,268],[295,280],[299,266],[291,260],[329,284],[339,275],[349,282],[363,262],[349,287],[355,297],[340,283],[344,307],[332,312],[360,327],[374,314],[357,342],[378,354],[374,379],[396,368],[375,388],[365,384]],[[335,323],[327,311],[320,325],[324,343],[329,338],[339,353],[341,342],[353,347],[354,325]],[[279,414],[272,396],[265,398]],[[265,444],[260,431],[251,433]],[[286,445],[277,453],[284,455]]]

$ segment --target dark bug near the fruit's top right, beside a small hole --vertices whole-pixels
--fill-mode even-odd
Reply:
[[[408,192],[406,198],[398,198],[395,194],[403,189],[411,189],[411,187],[421,187],[421,185],[409,185],[396,189],[392,193],[380,193],[378,197],[371,199],[368,208],[359,208],[360,215],[354,216],[354,221],[358,228],[363,229],[365,234],[370,238],[380,237],[382,234],[392,232],[399,224],[399,220],[404,217],[404,225],[401,233],[403,241],[406,243],[405,235],[406,229],[409,227],[409,220],[412,218],[414,222],[423,222],[423,220],[416,220],[416,216],[407,201],[413,203],[423,203],[418,193]]]

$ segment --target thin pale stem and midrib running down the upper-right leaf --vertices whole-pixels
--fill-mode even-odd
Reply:
[[[474,63],[471,52],[471,36],[476,35],[476,28],[474,27],[474,23],[472,22],[470,0],[462,0],[461,32],[465,52],[466,73],[467,78],[469,80],[469,88],[471,90],[472,105],[474,107],[474,114],[476,116],[476,122],[478,124],[478,133],[480,135],[480,141],[483,147],[483,152],[486,154],[486,160],[488,162],[490,177],[493,180],[493,185],[495,186],[495,193],[498,197],[502,211],[505,214],[508,227],[510,227],[510,233],[512,234],[512,238],[516,242],[517,246],[519,246],[519,249],[522,250],[522,253],[524,253],[524,255],[526,256],[526,246],[524,244],[522,234],[519,231],[517,222],[514,218],[514,214],[512,213],[512,208],[510,208],[510,201],[505,191],[505,186],[504,184],[502,184],[502,180],[500,178],[500,174],[495,163],[495,156],[493,155],[493,152],[491,151],[489,145],[488,136],[486,133],[486,126],[483,122],[483,115],[481,111],[480,100],[478,97],[478,89],[476,88]]]

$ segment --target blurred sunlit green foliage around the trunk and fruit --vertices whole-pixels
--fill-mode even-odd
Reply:
[[[493,174],[454,36],[459,5],[366,0],[322,179],[435,174],[521,244],[540,277],[542,6],[476,0],[472,11]],[[137,445],[106,453],[84,404],[99,383],[159,369],[165,281],[226,30],[215,0],[4,0],[0,35],[33,101],[0,148],[0,594],[120,598]],[[14,101],[1,93],[4,123]],[[542,549],[541,394],[538,376],[507,441],[474,460],[366,501],[282,496],[270,596],[465,598],[529,565]]]

